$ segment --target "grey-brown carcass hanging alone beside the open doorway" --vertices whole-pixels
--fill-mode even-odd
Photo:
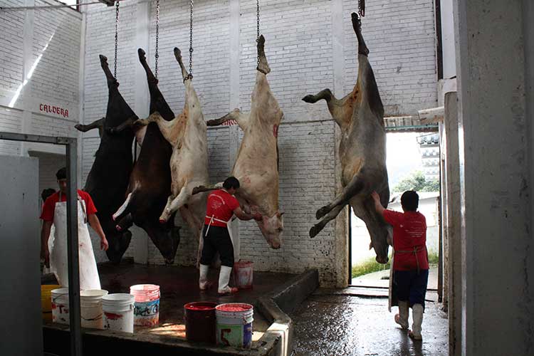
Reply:
[[[328,221],[350,204],[356,216],[362,219],[371,236],[377,262],[386,263],[391,228],[375,211],[370,196],[376,191],[383,206],[389,201],[389,184],[386,169],[386,130],[384,128],[384,107],[378,93],[375,74],[367,58],[369,50],[362,37],[361,22],[352,13],[352,27],[358,41],[358,78],[352,93],[341,100],[329,89],[317,95],[307,95],[303,100],[316,103],[326,100],[328,110],[341,129],[339,156],[342,166],[342,192],[328,205],[315,214],[321,219],[310,229],[314,237]]]

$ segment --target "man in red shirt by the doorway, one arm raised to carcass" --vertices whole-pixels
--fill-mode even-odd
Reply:
[[[417,211],[419,195],[413,190],[401,196],[404,213],[384,209],[377,192],[372,192],[375,209],[393,226],[393,295],[397,296],[399,314],[395,322],[408,329],[409,307],[412,307],[412,330],[409,337],[422,340],[424,297],[429,279],[429,258],[426,252],[426,219]]]

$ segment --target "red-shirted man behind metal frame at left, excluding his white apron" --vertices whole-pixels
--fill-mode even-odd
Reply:
[[[52,194],[46,199],[43,204],[43,210],[41,212],[41,219],[43,220],[43,226],[41,227],[41,258],[44,259],[45,265],[47,268],[50,268],[50,251],[48,251],[48,238],[50,236],[51,227],[54,221],[54,214],[56,211],[56,203],[67,201],[67,177],[66,177],[66,168],[63,167],[58,170],[56,173],[56,178],[58,179],[59,191]],[[85,203],[85,215],[87,216],[87,221],[90,226],[95,230],[95,232],[100,236],[100,248],[104,251],[108,249],[108,240],[105,238],[104,231],[102,226],[100,226],[100,221],[95,215],[96,208],[91,199],[90,195],[87,192],[83,192],[78,189],[78,197],[83,200]],[[58,226],[56,226],[58,229]],[[78,237],[80,234],[78,234]],[[81,241],[79,241],[81,242]]]

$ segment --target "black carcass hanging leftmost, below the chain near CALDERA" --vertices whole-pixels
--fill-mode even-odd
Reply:
[[[128,179],[132,172],[132,130],[124,130],[119,134],[111,134],[110,127],[121,125],[135,117],[135,113],[120,95],[119,83],[110,72],[108,58],[100,55],[100,65],[108,79],[108,109],[105,117],[89,125],[75,127],[86,132],[98,128],[100,145],[95,153],[95,162],[85,182],[85,192],[88,192],[95,202],[98,220],[108,239],[109,248],[106,251],[110,261],[118,263],[125,253],[132,234],[130,231],[117,231],[112,214],[122,204],[128,186]]]

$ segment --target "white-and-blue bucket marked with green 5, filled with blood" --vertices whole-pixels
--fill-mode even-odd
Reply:
[[[245,303],[219,304],[215,308],[219,345],[250,348],[254,308]]]

